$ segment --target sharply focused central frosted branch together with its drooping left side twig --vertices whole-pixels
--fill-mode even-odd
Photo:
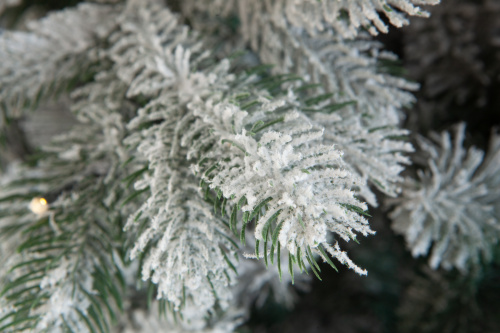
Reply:
[[[217,193],[217,200],[224,198],[227,212],[232,208],[230,226],[233,230],[239,208],[245,216],[244,224],[256,218],[255,235],[257,240],[265,243],[260,252],[264,253],[266,260],[268,233],[275,224],[271,257],[274,251],[279,251],[279,235],[279,242],[297,258],[299,267],[303,262],[313,260],[312,251],[326,256],[325,250],[320,252],[318,249],[323,245],[330,255],[364,274],[345,258],[344,252],[326,244],[327,231],[335,232],[344,240],[355,238],[356,232],[372,233],[367,221],[359,214],[359,211],[366,210],[366,206],[355,199],[352,191],[356,182],[362,184],[362,181],[345,170],[341,152],[331,146],[313,147],[313,143],[321,142],[323,131],[313,128],[306,116],[301,116],[296,110],[300,103],[292,90],[284,99],[274,101],[266,90],[250,91],[249,86],[257,85],[258,81],[236,80],[228,72],[227,60],[203,70],[200,60],[205,55],[196,54],[200,48],[197,43],[184,38],[185,45],[192,45],[190,48],[170,47],[170,41],[186,35],[185,29],[174,28],[176,26],[171,24],[165,27],[164,22],[169,21],[162,20],[168,13],[143,13],[139,11],[138,32],[144,31],[139,24],[147,22],[149,29],[161,31],[162,35],[149,33],[134,41],[120,39],[111,55],[120,66],[133,68],[130,76],[125,69],[121,71],[121,78],[131,87],[128,96],[156,97],[139,110],[138,117],[129,124],[132,132],[137,128],[144,129],[127,139],[127,143],[137,146],[137,151],[148,161],[150,171],[135,188],[151,190],[150,199],[139,211],[140,220],[151,219],[151,222],[138,239],[132,257],[135,257],[135,251],[144,250],[149,242],[159,242],[145,261],[143,278],[149,278],[149,272],[153,272],[153,281],[159,283],[160,296],[166,297],[176,307],[182,303],[179,295],[187,290],[188,295],[192,294],[194,300],[200,301],[200,307],[205,304],[208,310],[215,300],[205,301],[208,296],[196,295],[207,290],[200,287],[199,277],[210,272],[217,281],[210,281],[216,288],[215,293],[224,299],[224,290],[231,279],[224,276],[227,274],[222,260],[225,254],[216,244],[224,244],[227,248],[232,246],[224,240],[225,227],[212,217],[209,206],[188,199],[202,199],[196,188],[198,181],[187,173],[193,163],[193,170]],[[152,15],[161,20],[155,20]],[[127,20],[127,29],[132,29],[131,22]],[[160,43],[163,36],[168,36],[168,39]],[[133,43],[147,43],[146,38],[158,41],[149,44],[158,47],[131,48]],[[123,42],[126,39],[130,44]],[[135,61],[137,52],[145,52],[140,57],[144,63]],[[129,65],[132,63],[134,66]],[[197,63],[199,65],[195,66]],[[191,68],[197,68],[197,71]],[[156,80],[158,83],[155,84]],[[229,88],[231,92],[225,97]],[[280,131],[258,133],[273,125]],[[215,174],[213,178],[212,172]],[[207,220],[212,221],[210,226],[207,226]],[[134,219],[131,219],[129,226],[133,224]],[[244,230],[245,226],[242,228]],[[183,236],[180,236],[181,232]],[[212,245],[202,245],[203,235],[215,235],[218,241],[207,238]],[[186,241],[183,237],[187,237]],[[188,239],[197,239],[198,242],[194,244]],[[185,244],[182,246],[189,246],[190,250],[178,244]],[[196,254],[202,258],[205,253],[206,258],[186,267],[186,261],[174,255],[177,251],[193,253],[193,260]],[[207,258],[214,261],[207,261]],[[172,269],[175,265],[180,266]],[[177,282],[171,277],[172,272],[178,276]],[[185,283],[183,288],[184,280],[191,281],[195,277],[196,283]]]

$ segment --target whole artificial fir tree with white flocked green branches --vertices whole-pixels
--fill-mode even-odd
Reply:
[[[498,135],[487,154],[464,125],[414,148],[418,84],[373,37],[438,2],[102,0],[6,20],[0,331],[239,330],[325,268],[366,275],[346,249],[390,223],[380,206],[413,255],[478,276],[497,260]],[[13,154],[58,98],[75,124]]]

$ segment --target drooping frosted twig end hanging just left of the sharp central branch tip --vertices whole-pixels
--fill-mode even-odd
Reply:
[[[158,284],[158,298],[171,302],[175,310],[183,306],[185,298],[200,312],[211,310],[216,302],[225,309],[231,298],[228,286],[235,280],[227,251],[234,252],[235,244],[223,233],[225,226],[213,217],[212,207],[203,202],[193,177],[167,171],[158,169],[155,176],[165,172],[161,175],[167,183],[158,182],[139,210],[138,214],[152,215],[153,220],[144,221],[150,225],[132,249],[131,259],[153,244],[142,265],[142,278]]]

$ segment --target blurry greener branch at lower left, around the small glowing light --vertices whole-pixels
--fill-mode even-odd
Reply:
[[[126,160],[120,149],[120,112],[127,108],[113,99],[124,93],[114,82],[119,82],[116,77],[102,72],[98,81],[77,90],[74,112],[87,124],[44,147],[36,169],[7,174],[0,197],[8,204],[0,207],[0,227],[2,235],[17,235],[17,244],[10,245],[22,252],[2,267],[2,302],[18,297],[39,301],[14,305],[3,317],[2,331],[31,320],[26,327],[39,332],[87,332],[87,316],[100,313],[98,325],[106,326],[121,306],[116,253],[122,246],[120,221],[130,212],[117,207],[124,190],[119,165]],[[37,196],[46,198],[47,212],[28,210]],[[104,302],[109,295],[114,304]],[[103,302],[110,306],[106,315]]]

